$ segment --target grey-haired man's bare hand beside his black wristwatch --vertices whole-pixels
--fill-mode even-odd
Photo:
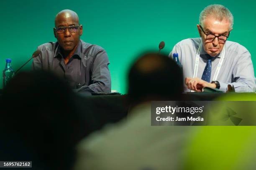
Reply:
[[[188,89],[194,90],[196,92],[202,92],[203,87],[216,88],[216,85],[214,83],[201,80],[200,78],[191,78],[191,77],[185,78],[185,85],[187,85]]]

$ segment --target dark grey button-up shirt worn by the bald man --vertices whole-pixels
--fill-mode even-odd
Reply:
[[[102,47],[80,40],[67,65],[58,42],[42,44],[37,50],[41,52],[33,59],[33,70],[52,71],[77,92],[111,91],[108,55]]]

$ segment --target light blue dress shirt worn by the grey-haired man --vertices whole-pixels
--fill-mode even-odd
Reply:
[[[185,77],[193,77],[195,59],[201,41],[201,38],[189,38],[182,40],[173,47],[172,52],[169,54],[169,56],[172,56],[173,53],[179,54],[179,61],[183,66],[184,80]],[[215,74],[222,52],[212,60],[210,81],[212,81]],[[207,53],[202,45],[197,72],[197,77],[200,79],[206,64]],[[225,92],[227,91],[228,85],[233,85],[236,92],[255,92],[255,80],[250,52],[237,42],[226,41],[225,59],[223,60],[217,77],[217,81],[220,82],[220,90]],[[189,91],[190,90],[187,89],[187,87],[184,87],[184,92]]]

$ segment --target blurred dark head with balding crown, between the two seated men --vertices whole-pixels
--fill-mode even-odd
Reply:
[[[168,56],[142,55],[128,75],[128,97],[132,104],[151,100],[179,100],[183,90],[182,72]]]

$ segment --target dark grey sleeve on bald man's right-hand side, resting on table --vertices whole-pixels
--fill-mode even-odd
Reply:
[[[92,65],[92,84],[84,85],[77,92],[111,92],[111,77],[108,65],[108,55],[105,50],[98,52]]]

